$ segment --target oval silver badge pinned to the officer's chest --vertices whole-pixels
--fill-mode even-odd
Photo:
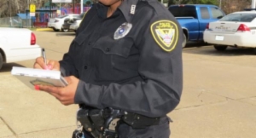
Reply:
[[[128,32],[130,32],[131,30],[131,23],[125,22],[123,23],[121,26],[119,26],[119,28],[114,32],[113,34],[113,39],[119,39],[121,37],[125,37]]]

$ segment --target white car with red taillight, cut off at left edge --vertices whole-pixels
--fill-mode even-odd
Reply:
[[[42,49],[31,30],[0,27],[0,69],[4,63],[34,60],[41,55]]]

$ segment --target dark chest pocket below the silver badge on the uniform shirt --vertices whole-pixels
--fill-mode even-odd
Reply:
[[[112,37],[98,39],[91,51],[93,63],[97,66],[96,79],[120,82],[131,78],[134,58],[131,57],[133,41],[130,38],[114,40]]]

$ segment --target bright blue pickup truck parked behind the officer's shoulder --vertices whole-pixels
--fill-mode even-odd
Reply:
[[[207,24],[225,15],[218,6],[211,4],[171,5],[168,9],[183,29],[183,48],[188,41],[203,41]]]

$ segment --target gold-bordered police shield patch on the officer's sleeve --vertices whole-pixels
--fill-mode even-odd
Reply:
[[[155,21],[150,27],[154,41],[165,51],[172,51],[177,45],[178,29],[171,20]]]

